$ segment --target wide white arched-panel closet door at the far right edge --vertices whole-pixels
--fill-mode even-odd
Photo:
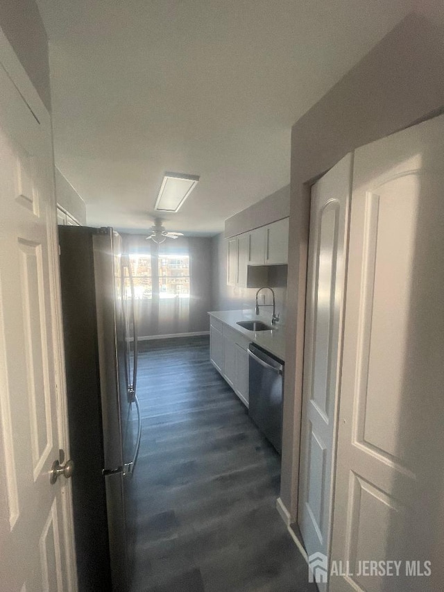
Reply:
[[[438,117],[355,152],[330,592],[443,589],[443,303]]]

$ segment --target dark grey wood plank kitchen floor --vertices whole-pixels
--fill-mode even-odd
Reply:
[[[145,341],[133,592],[305,592],[275,500],[280,457],[210,363],[208,337]]]

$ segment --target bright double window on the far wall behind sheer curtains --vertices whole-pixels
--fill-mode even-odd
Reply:
[[[157,295],[162,299],[189,298],[189,255],[130,253],[129,257],[136,300],[151,300]]]

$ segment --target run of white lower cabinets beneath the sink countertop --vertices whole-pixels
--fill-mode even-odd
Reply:
[[[248,353],[250,341],[241,333],[210,317],[210,359],[248,407]]]

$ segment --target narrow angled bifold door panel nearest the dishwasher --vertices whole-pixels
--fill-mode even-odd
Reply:
[[[350,153],[311,190],[298,509],[308,555],[329,551],[351,182]]]

